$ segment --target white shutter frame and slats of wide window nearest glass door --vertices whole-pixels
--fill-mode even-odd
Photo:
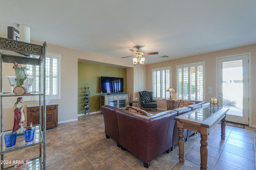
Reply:
[[[181,65],[176,65],[176,92],[177,92],[177,98],[178,99],[182,99],[182,100],[194,100],[194,101],[205,101],[206,100],[206,67],[205,67],[205,61],[202,61],[202,62],[197,62],[197,63],[189,63],[189,64],[181,64]],[[202,66],[202,76],[199,76],[200,80],[198,79],[198,70],[197,68],[199,66]],[[191,68],[192,67],[195,67],[195,70],[194,70],[194,75],[191,74],[192,70]],[[188,83],[188,88],[187,88],[187,91],[188,91],[188,97],[185,98],[184,97],[184,68],[188,68],[187,71],[188,71],[188,79],[187,79],[187,83]],[[182,71],[180,72],[179,69],[182,69]],[[179,74],[181,74],[181,81],[182,81],[182,87],[180,89],[180,77],[179,77]],[[194,80],[194,87],[191,86],[191,76],[194,76],[195,80]],[[198,82],[200,81],[200,82]],[[201,84],[201,85],[200,85]],[[198,86],[202,86],[200,88],[200,90],[202,90],[202,92],[198,92]],[[195,91],[195,96],[194,96],[194,99],[192,98],[192,94],[191,94],[191,91],[194,89]],[[181,94],[180,94],[181,93]],[[202,94],[202,97],[200,98],[200,96],[198,96],[198,94]],[[181,98],[180,98],[181,97]],[[202,100],[201,100],[202,99]]]

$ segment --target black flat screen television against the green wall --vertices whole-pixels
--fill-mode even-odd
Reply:
[[[100,77],[101,93],[122,93],[124,92],[124,78]]]

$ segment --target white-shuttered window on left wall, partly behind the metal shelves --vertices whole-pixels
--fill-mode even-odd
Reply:
[[[60,55],[46,53],[46,98],[50,100],[60,99]],[[29,70],[27,70],[28,76],[34,77],[32,86],[30,87],[30,92],[39,91],[39,66],[26,65]],[[43,71],[43,67],[41,68]],[[42,75],[42,74],[41,74]],[[43,80],[43,76],[41,76]],[[42,82],[41,80],[41,82]],[[39,100],[38,96],[26,96],[26,101]]]

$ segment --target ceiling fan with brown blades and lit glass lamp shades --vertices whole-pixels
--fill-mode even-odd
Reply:
[[[132,51],[132,53],[134,53],[134,55],[131,56],[127,56],[127,57],[134,57],[133,58],[133,64],[137,65],[138,63],[140,63],[140,65],[144,64],[145,58],[144,56],[146,55],[155,55],[158,54],[158,52],[153,52],[153,53],[143,53],[140,48],[142,47],[141,45],[137,45],[135,46],[137,51],[135,51],[134,49],[129,49],[130,51]],[[122,58],[126,58],[126,57],[122,57]]]

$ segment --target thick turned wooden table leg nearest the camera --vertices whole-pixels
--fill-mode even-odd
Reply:
[[[200,154],[201,154],[201,167],[200,170],[207,170],[207,156],[208,156],[208,149],[207,149],[207,135],[201,134],[201,147],[200,147]]]

